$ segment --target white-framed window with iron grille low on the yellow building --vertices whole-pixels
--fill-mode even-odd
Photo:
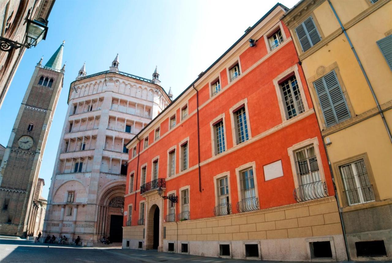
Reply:
[[[348,205],[375,201],[372,184],[363,159],[339,166]]]

